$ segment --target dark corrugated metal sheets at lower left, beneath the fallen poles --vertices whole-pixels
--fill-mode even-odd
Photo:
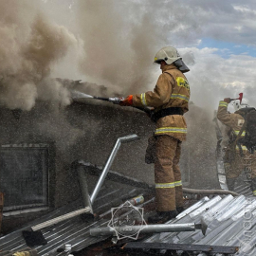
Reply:
[[[102,212],[102,210],[107,210],[102,213],[106,215],[111,207],[119,206],[123,199],[124,195],[126,199],[132,198],[145,192],[141,189],[136,189],[131,186],[118,186],[116,185],[113,189],[113,186],[101,188],[101,192],[94,204],[95,212]],[[116,196],[113,196],[115,194]],[[39,223],[43,223],[46,220],[55,218],[60,215],[64,215],[67,212],[72,210],[77,210],[82,208],[82,202],[80,200],[69,204],[61,209],[54,210],[46,216],[30,222],[23,229],[18,229],[9,233],[8,235],[0,238],[0,251],[16,251],[24,247],[27,247],[26,241],[23,238],[22,231],[30,229],[31,226],[34,226]],[[84,221],[80,216],[74,217],[72,219],[66,220],[64,222],[58,223],[54,226],[42,229],[42,233],[46,238],[47,245],[33,247],[37,250],[39,255],[63,255],[66,252],[58,252],[58,248],[64,248],[64,245],[71,245],[72,251],[79,251],[84,247],[88,247],[92,244],[100,242],[105,238],[102,237],[92,237],[89,234],[89,229],[93,227],[106,226],[109,220],[100,219],[98,221]]]

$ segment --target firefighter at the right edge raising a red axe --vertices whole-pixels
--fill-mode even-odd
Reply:
[[[251,190],[253,195],[256,195],[256,154],[250,154],[247,151],[246,146],[241,146],[242,152],[240,152],[239,146],[235,140],[242,129],[245,119],[244,111],[241,109],[249,107],[247,99],[240,101],[233,101],[234,113],[228,112],[228,105],[230,98],[226,98],[219,102],[217,119],[223,124],[227,125],[226,133],[229,137],[229,143],[226,147],[226,153],[224,156],[224,166],[226,173],[227,186],[229,191],[234,191],[235,181],[237,177],[245,170],[248,180],[251,181]],[[244,131],[240,137],[245,137]]]

